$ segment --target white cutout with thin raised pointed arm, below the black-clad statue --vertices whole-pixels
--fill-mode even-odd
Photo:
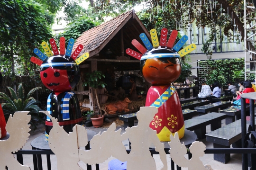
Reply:
[[[58,119],[53,118],[48,111],[41,111],[45,113],[53,122],[48,137],[48,143],[51,150],[57,157],[58,170],[81,170],[78,166],[79,145],[87,145],[87,130],[81,125],[75,125],[73,132],[69,134],[65,132],[63,126],[60,126]],[[79,139],[81,136],[81,139]],[[85,137],[86,136],[86,137]]]

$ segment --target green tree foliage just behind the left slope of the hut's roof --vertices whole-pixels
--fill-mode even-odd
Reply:
[[[61,36],[64,36],[65,39],[73,38],[76,40],[83,32],[99,25],[98,22],[92,22],[90,18],[82,16],[73,22],[67,25],[67,28],[64,29],[64,33],[59,34],[56,39],[59,39]]]

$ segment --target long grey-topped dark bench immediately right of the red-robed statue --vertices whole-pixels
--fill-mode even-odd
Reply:
[[[198,139],[204,139],[206,134],[206,126],[210,125],[210,130],[214,131],[221,127],[221,120],[226,118],[223,113],[209,113],[203,116],[194,117],[185,120],[185,129],[194,131]]]

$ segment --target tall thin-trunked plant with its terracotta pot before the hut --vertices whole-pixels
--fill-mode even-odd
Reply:
[[[85,73],[85,79],[83,83],[83,86],[89,85],[91,88],[93,88],[97,105],[100,109],[100,115],[94,115],[91,117],[91,122],[94,127],[101,127],[103,125],[103,119],[104,119],[104,116],[102,115],[102,112],[101,112],[101,105],[100,105],[99,98],[96,91],[96,89],[99,86],[101,86],[102,88],[105,88],[106,83],[103,81],[100,81],[102,77],[105,78],[105,75],[100,71],[87,72]]]

